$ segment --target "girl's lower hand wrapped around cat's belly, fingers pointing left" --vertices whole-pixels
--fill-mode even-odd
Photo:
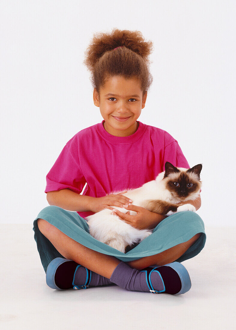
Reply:
[[[141,206],[130,204],[127,207],[123,206],[126,210],[135,211],[137,215],[124,214],[116,210],[112,214],[117,214],[119,218],[129,225],[137,229],[153,229],[158,224],[158,214],[151,212]],[[165,216],[166,217],[166,216]]]

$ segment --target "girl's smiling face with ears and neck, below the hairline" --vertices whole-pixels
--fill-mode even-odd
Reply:
[[[143,97],[140,81],[136,78],[124,79],[121,76],[109,78],[100,89],[93,90],[94,105],[100,108],[105,120],[104,128],[111,135],[128,136],[138,129],[137,119],[145,107],[147,92]],[[125,118],[119,121],[116,117]]]

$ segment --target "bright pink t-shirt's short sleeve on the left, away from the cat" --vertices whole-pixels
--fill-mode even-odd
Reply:
[[[54,165],[46,176],[46,189],[44,192],[70,189],[80,194],[86,183],[78,159],[75,159],[66,144],[56,159]]]

